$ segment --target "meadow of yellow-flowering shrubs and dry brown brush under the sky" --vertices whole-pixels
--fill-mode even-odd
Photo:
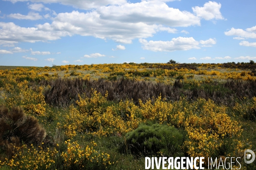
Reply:
[[[253,61],[0,66],[3,170],[143,170],[145,156],[255,170],[255,141]]]

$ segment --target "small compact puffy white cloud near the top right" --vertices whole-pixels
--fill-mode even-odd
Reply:
[[[224,17],[221,15],[221,3],[216,3],[209,1],[204,4],[204,7],[193,7],[192,8],[196,16],[204,18],[205,20],[224,20]]]

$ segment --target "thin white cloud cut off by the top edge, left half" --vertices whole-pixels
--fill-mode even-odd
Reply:
[[[107,5],[122,5],[126,0],[6,0],[16,3],[19,1],[31,1],[32,3],[61,3],[63,5],[73,6],[80,9],[99,8]]]

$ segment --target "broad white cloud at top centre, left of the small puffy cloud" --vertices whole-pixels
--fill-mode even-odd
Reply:
[[[97,9],[102,19],[116,20],[122,23],[164,24],[166,26],[200,25],[200,18],[189,11],[170,8],[159,0],[125,3],[122,6],[102,6]],[[165,28],[161,28],[165,29]]]

